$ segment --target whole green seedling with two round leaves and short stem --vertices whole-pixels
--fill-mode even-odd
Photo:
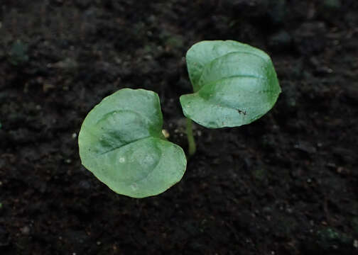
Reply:
[[[202,41],[187,55],[194,93],[180,96],[187,117],[188,154],[195,154],[192,120],[206,128],[238,127],[261,118],[281,88],[270,57],[249,45]],[[186,158],[161,130],[159,97],[120,89],[85,118],[78,142],[82,164],[116,193],[155,196],[180,181]]]

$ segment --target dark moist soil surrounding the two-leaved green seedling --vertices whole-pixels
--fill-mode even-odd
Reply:
[[[2,0],[0,254],[358,254],[357,0]],[[283,93],[241,128],[197,126],[160,196],[119,196],[81,166],[87,112],[121,88],[161,97],[187,147],[185,52],[238,40]]]

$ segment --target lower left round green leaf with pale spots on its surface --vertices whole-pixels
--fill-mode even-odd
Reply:
[[[78,137],[82,164],[116,193],[144,198],[180,181],[183,149],[162,135],[159,97],[144,89],[121,89],[85,118]]]

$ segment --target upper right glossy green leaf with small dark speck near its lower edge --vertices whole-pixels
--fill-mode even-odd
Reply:
[[[281,93],[271,58],[250,45],[202,41],[188,50],[186,60],[194,93],[180,96],[183,113],[207,128],[249,124]]]

